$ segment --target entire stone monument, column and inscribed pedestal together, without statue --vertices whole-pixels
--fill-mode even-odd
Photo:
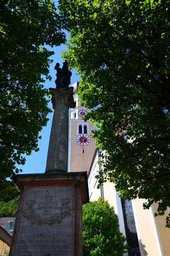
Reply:
[[[50,88],[54,116],[45,173],[14,175],[21,189],[9,256],[82,256],[87,172],[67,172],[73,87]]]

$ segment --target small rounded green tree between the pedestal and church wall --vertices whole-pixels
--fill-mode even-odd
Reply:
[[[123,256],[128,247],[119,232],[119,220],[108,201],[99,198],[85,204],[83,219],[83,256]]]

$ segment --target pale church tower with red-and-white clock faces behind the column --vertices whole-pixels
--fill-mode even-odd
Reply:
[[[91,131],[94,127],[90,121],[85,122],[82,117],[89,112],[76,94],[79,82],[74,87],[73,96],[76,102],[75,108],[70,113],[70,172],[89,171],[96,148],[95,140],[91,138]]]

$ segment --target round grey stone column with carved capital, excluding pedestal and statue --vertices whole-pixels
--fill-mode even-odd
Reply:
[[[75,107],[73,87],[49,88],[54,116],[51,126],[45,172],[67,172],[68,109]]]

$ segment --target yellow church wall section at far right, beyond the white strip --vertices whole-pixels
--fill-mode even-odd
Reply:
[[[158,204],[153,204],[154,212],[157,212]],[[166,217],[169,214],[169,211],[166,210],[164,216],[157,216],[155,218],[156,224],[159,230],[159,239],[161,241],[161,246],[164,251],[164,256],[170,256],[170,229],[165,227]]]

